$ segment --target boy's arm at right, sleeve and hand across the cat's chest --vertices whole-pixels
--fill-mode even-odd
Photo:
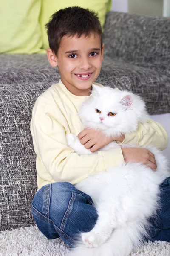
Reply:
[[[136,131],[133,131],[125,136],[106,137],[101,131],[94,129],[84,129],[78,135],[80,143],[85,148],[91,148],[91,152],[99,150],[105,145],[108,145],[113,140],[118,144],[132,144],[139,146],[152,145],[159,150],[164,150],[168,145],[168,134],[165,128],[158,122],[152,119],[144,123],[139,123]]]

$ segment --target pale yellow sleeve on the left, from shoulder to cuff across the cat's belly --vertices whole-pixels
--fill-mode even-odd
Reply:
[[[31,134],[34,150],[55,181],[76,184],[89,174],[124,164],[119,146],[107,152],[98,151],[97,154],[79,156],[67,145],[64,122],[65,117],[59,108],[54,109],[45,103],[33,108]],[[37,174],[41,177],[38,168]]]

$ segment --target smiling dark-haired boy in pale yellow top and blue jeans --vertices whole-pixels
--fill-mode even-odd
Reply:
[[[80,142],[92,152],[113,140],[118,144],[152,144],[163,150],[168,137],[164,128],[152,120],[141,123],[137,131],[125,137],[106,138],[99,131],[83,130],[77,112],[90,97],[91,84],[98,77],[103,61],[104,44],[98,17],[89,10],[69,7],[54,13],[46,27],[50,45],[48,61],[52,67],[58,66],[61,80],[38,97],[32,112],[31,134],[37,154],[39,189],[33,199],[32,213],[48,239],[61,237],[74,247],[77,234],[90,231],[97,219],[92,199],[74,184],[120,163],[143,162],[156,169],[156,161],[143,148],[116,148],[79,156],[68,147],[65,135],[78,135]],[[150,220],[153,240],[170,241],[169,182],[170,178],[162,184],[159,218],[156,223]]]

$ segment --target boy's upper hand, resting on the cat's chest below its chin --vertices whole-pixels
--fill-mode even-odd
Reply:
[[[125,137],[107,137],[105,134],[103,134],[101,131],[96,131],[93,129],[86,128],[85,130],[81,131],[78,134],[79,141],[82,145],[85,146],[85,148],[90,148],[91,152],[95,152],[99,148],[104,147],[105,145],[108,145],[113,140],[119,140],[122,142]]]

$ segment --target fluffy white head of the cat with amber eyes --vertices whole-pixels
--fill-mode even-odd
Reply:
[[[99,87],[93,89],[91,99],[82,105],[79,116],[86,127],[103,131],[111,128],[124,133],[130,122],[136,122],[135,111],[138,107],[136,106],[136,110],[134,107],[133,94]]]

